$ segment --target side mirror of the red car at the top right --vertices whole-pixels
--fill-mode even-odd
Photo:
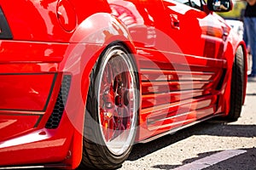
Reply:
[[[228,12],[233,8],[232,0],[208,0],[207,7],[214,12]]]

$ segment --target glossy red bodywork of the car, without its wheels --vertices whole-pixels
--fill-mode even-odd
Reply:
[[[246,48],[204,4],[0,0],[0,6],[0,167],[79,166],[90,72],[112,42],[124,44],[137,65],[137,142],[230,112],[232,65],[237,48]],[[246,82],[244,76],[244,89]]]

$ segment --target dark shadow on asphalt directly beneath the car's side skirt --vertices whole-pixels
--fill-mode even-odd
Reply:
[[[178,141],[187,139],[193,135],[253,138],[256,137],[255,129],[256,125],[232,125],[224,121],[213,119],[185,128],[177,133],[168,134],[160,139],[154,139],[146,144],[135,144],[131,150],[131,155],[127,160],[136,161],[157,150],[161,150],[170,144],[175,144]]]

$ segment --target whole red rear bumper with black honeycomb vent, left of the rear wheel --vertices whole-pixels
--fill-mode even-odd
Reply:
[[[0,169],[79,166],[90,71],[103,48],[0,41]]]

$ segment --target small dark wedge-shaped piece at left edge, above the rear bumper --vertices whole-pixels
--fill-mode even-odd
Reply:
[[[0,8],[0,39],[13,39],[12,32],[9,29],[2,8]]]

